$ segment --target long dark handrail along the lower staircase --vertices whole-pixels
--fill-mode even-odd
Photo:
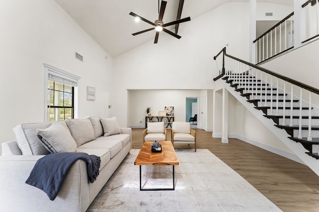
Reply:
[[[254,64],[249,63],[249,62],[246,62],[246,61],[244,61],[244,60],[241,60],[241,59],[239,59],[239,58],[233,57],[233,56],[231,56],[231,55],[227,55],[227,54],[226,54],[226,47],[224,47],[221,52],[223,52],[224,55],[227,56],[227,57],[229,57],[229,58],[232,58],[232,59],[234,59],[234,60],[236,60],[236,61],[239,61],[239,62],[241,62],[241,63],[244,63],[244,64],[246,64],[246,65],[248,65],[248,66],[250,66],[250,67],[253,67],[253,68],[258,69],[258,70],[260,70],[260,71],[264,71],[264,72],[269,73],[269,74],[271,74],[271,75],[273,75],[273,76],[276,76],[276,77],[278,77],[278,78],[280,78],[280,79],[283,79],[283,80],[285,80],[285,81],[287,81],[287,82],[290,82],[290,83],[292,83],[292,84],[295,84],[295,85],[297,85],[297,86],[299,86],[299,87],[301,87],[301,88],[304,88],[304,89],[306,89],[306,90],[309,90],[309,91],[311,91],[311,92],[314,92],[314,93],[316,93],[316,94],[319,94],[319,89],[318,89],[318,88],[315,88],[315,87],[310,86],[310,85],[308,85],[308,84],[305,84],[305,83],[303,83],[303,82],[297,81],[297,80],[295,80],[295,79],[289,78],[289,77],[287,77],[287,76],[283,76],[283,75],[281,75],[281,74],[275,73],[275,72],[270,71],[270,70],[268,70],[268,69],[262,68],[262,67],[260,67],[260,66],[254,65]],[[217,57],[219,54],[220,54],[220,53],[218,53],[218,54],[214,57],[214,60],[216,60],[216,57]]]

